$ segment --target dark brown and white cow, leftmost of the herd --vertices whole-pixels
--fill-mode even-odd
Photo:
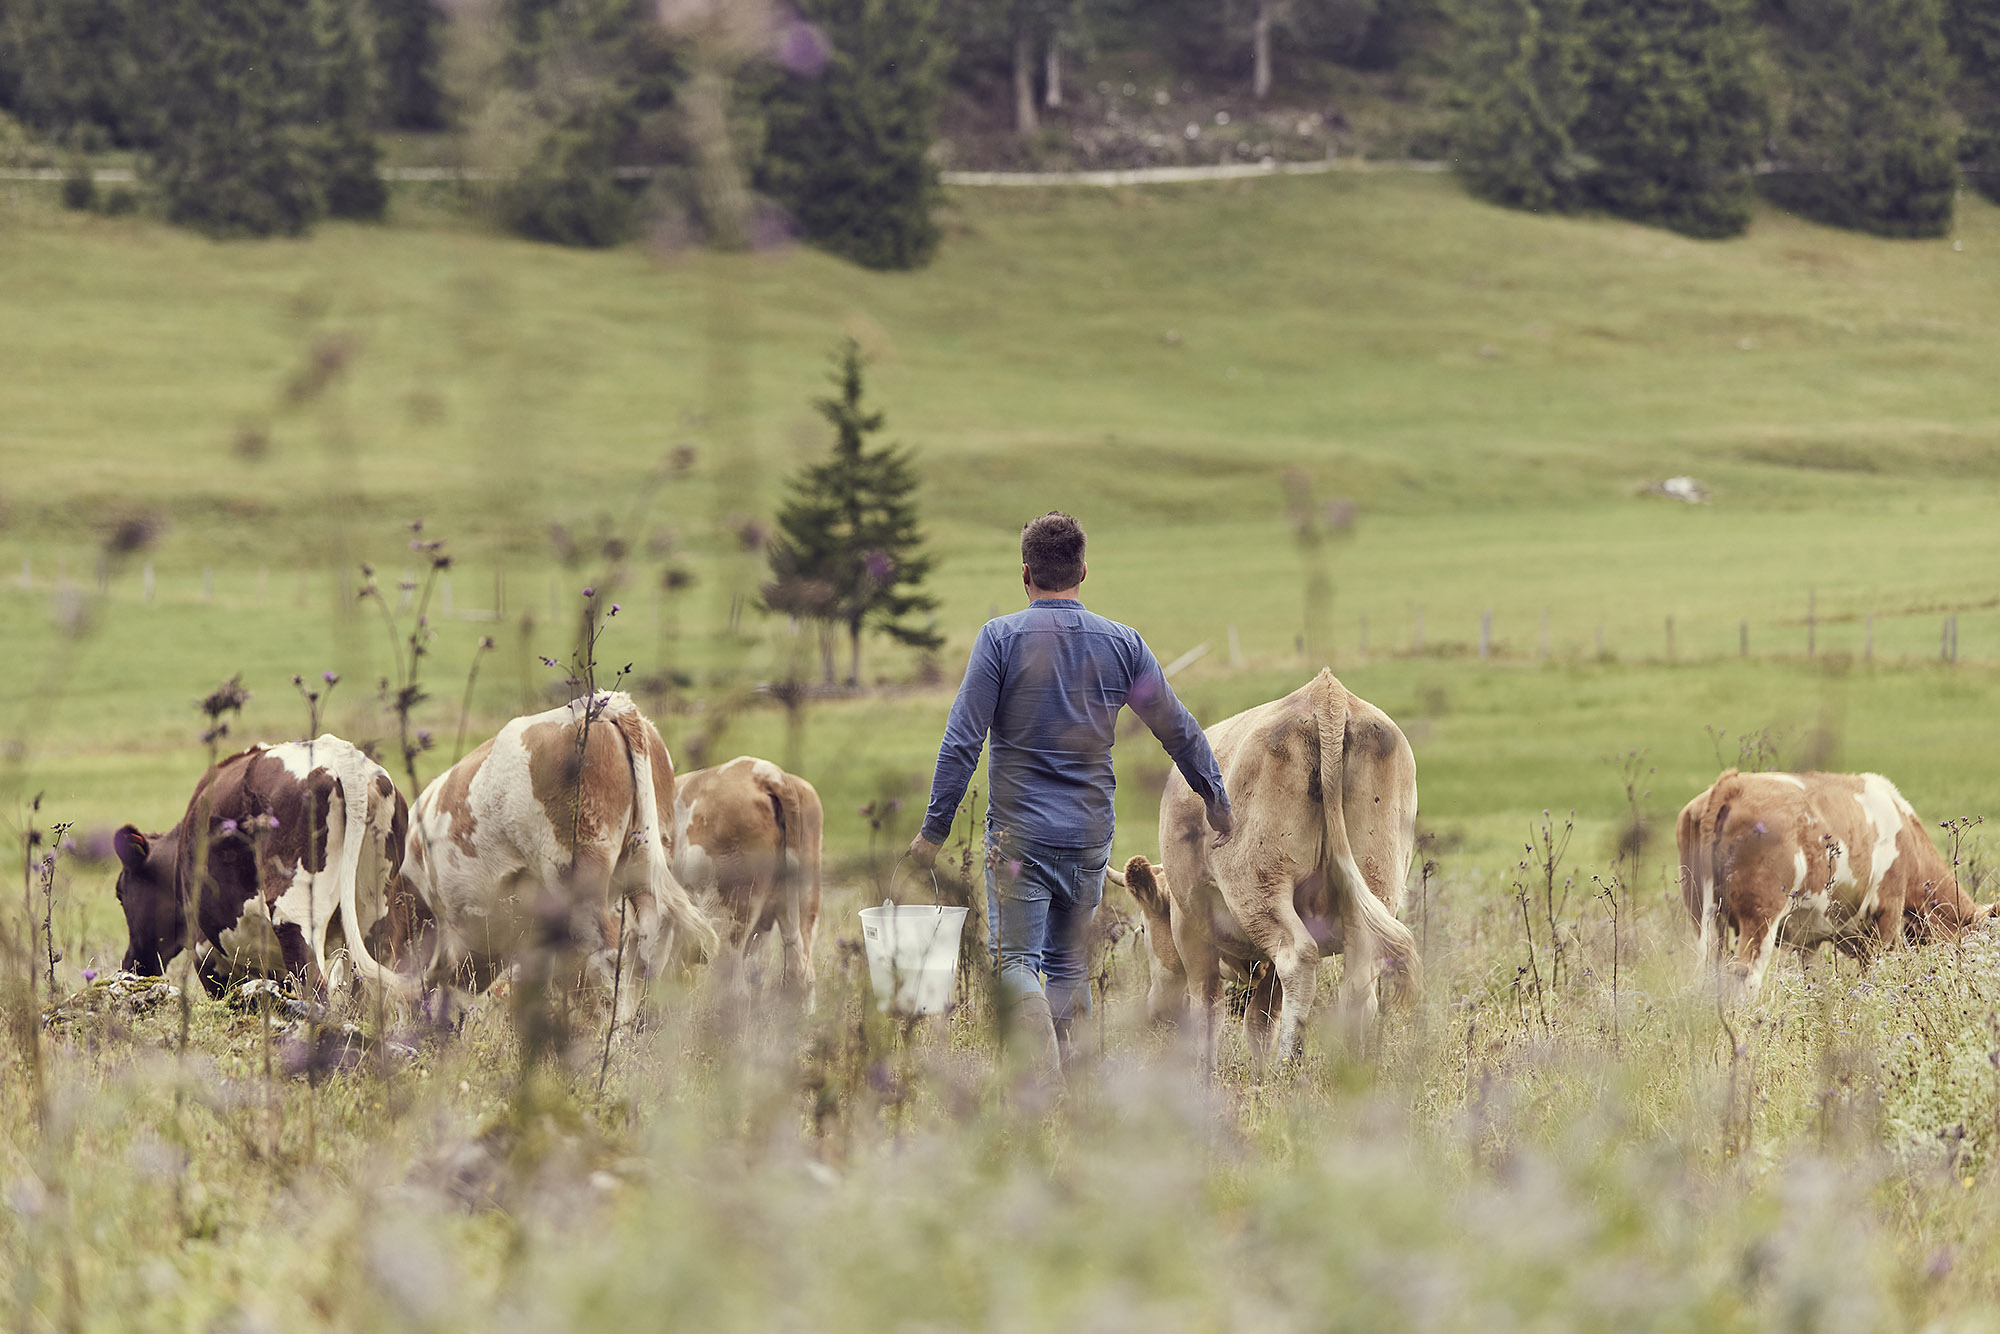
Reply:
[[[118,902],[124,966],[158,976],[188,946],[202,984],[220,994],[244,976],[298,976],[312,992],[328,976],[334,920],[352,968],[398,996],[414,982],[368,948],[386,926],[390,948],[410,926],[402,842],[408,808],[380,764],[338,736],[252,746],[194,784],[180,824],[164,834],[124,826]]]

